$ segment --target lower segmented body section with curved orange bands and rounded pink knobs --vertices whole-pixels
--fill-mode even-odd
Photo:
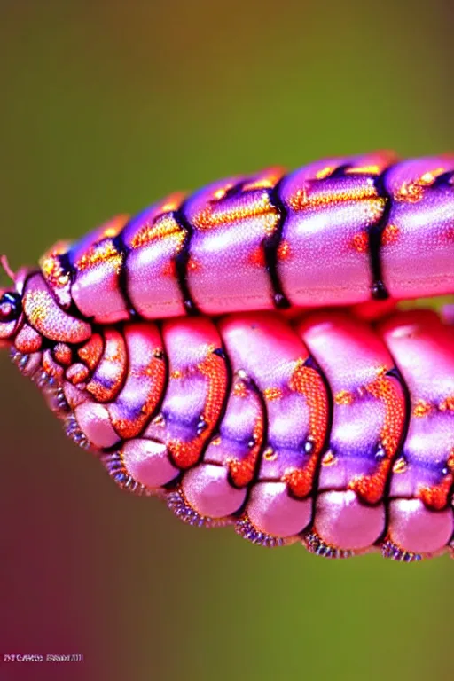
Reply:
[[[435,313],[129,322],[67,369],[64,349],[43,366],[66,375],[68,434],[184,521],[328,556],[452,540],[454,330]]]

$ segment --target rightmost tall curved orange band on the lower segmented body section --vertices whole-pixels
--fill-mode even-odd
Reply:
[[[375,473],[361,475],[348,485],[368,504],[376,504],[383,497],[387,475],[392,466],[395,453],[401,442],[405,422],[405,402],[400,384],[391,376],[386,376],[386,367],[377,371],[378,378],[365,389],[385,407],[385,417],[380,433],[384,457],[377,464]]]

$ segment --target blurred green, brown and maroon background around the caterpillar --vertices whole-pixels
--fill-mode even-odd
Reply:
[[[166,192],[452,147],[448,0],[0,0],[12,267]],[[450,85],[451,83],[451,85]],[[129,497],[0,358],[1,679],[451,679],[454,564],[266,551]]]

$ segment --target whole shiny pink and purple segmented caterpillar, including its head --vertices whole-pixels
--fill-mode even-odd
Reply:
[[[454,552],[454,326],[382,315],[454,292],[453,177],[374,153],[172,195],[39,270],[4,260],[0,344],[121,488],[185,522]]]

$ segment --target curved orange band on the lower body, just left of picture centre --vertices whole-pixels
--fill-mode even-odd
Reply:
[[[200,458],[204,443],[213,432],[219,418],[227,388],[227,368],[222,357],[210,352],[207,358],[197,365],[199,372],[207,380],[207,398],[201,418],[207,427],[196,434],[189,442],[170,440],[168,451],[180,468],[194,466]]]

